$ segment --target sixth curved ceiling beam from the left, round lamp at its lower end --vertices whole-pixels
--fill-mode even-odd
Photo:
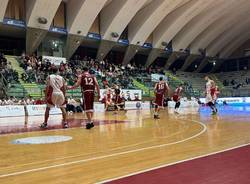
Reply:
[[[196,0],[187,3],[181,8],[173,11],[169,14],[153,33],[154,47],[161,48],[162,42],[170,42],[174,36],[190,21],[193,17],[200,14],[202,11],[207,9],[216,0],[204,1]]]

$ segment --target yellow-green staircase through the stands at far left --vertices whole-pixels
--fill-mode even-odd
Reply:
[[[20,84],[24,88],[25,92],[28,96],[32,97],[41,97],[42,90],[39,88],[39,86],[36,83],[25,83],[22,80],[22,74],[25,73],[24,69],[20,67],[18,59],[16,56],[6,56],[6,59],[11,63],[11,66],[14,70],[17,71]]]

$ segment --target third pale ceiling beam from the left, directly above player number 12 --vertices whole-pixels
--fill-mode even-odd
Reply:
[[[107,0],[71,0],[67,3],[68,33],[86,36]]]

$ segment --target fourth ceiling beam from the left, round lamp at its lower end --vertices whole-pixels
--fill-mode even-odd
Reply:
[[[116,0],[101,11],[100,29],[105,40],[117,41],[119,37],[111,36],[112,32],[121,35],[131,19],[148,0]]]

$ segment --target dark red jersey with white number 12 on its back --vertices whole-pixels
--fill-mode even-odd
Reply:
[[[82,74],[81,88],[82,91],[95,91],[96,79],[94,76],[90,75],[88,72]]]

